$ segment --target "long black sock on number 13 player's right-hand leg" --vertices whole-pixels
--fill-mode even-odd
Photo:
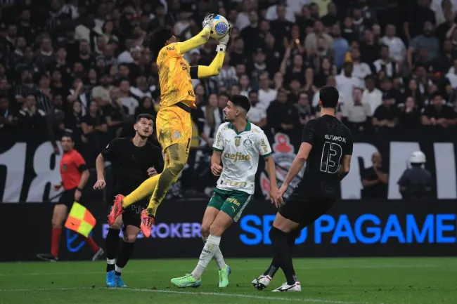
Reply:
[[[287,242],[288,234],[278,230],[276,227],[271,227],[269,236],[275,256],[278,255],[279,265],[281,265],[285,279],[287,279],[289,285],[295,284],[295,270],[292,265],[292,256],[290,255],[290,248]]]

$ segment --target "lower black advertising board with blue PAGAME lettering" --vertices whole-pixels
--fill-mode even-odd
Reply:
[[[134,258],[197,258],[202,249],[200,222],[207,201],[165,201],[157,213],[151,237],[140,235]],[[86,207],[98,223],[92,236],[104,246],[107,206]],[[53,204],[4,204],[0,212],[0,261],[36,260],[50,249]],[[238,224],[222,237],[227,258],[270,257],[268,236],[275,209],[269,201],[250,202]],[[442,201],[340,201],[314,225],[302,230],[295,256],[456,256],[457,204]],[[14,244],[14,245],[13,245]],[[70,230],[60,244],[61,260],[89,260],[89,246]]]

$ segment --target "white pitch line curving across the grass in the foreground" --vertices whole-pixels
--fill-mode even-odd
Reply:
[[[316,299],[316,298],[287,298],[287,297],[276,297],[276,296],[255,296],[251,294],[243,293],[217,293],[217,292],[207,292],[207,291],[174,291],[174,290],[165,290],[165,289],[130,289],[130,288],[117,288],[117,289],[108,289],[102,287],[68,287],[68,288],[42,288],[42,289],[0,289],[0,292],[32,292],[32,291],[69,291],[69,290],[90,290],[90,289],[105,289],[105,290],[115,290],[115,291],[134,291],[134,292],[152,292],[152,293],[172,293],[172,294],[185,294],[185,295],[198,295],[198,296],[226,296],[233,298],[255,298],[260,300],[284,300],[290,302],[308,302],[308,303],[328,303],[328,304],[368,304],[366,302],[350,302],[350,301],[341,301],[341,300],[326,300],[326,299]]]

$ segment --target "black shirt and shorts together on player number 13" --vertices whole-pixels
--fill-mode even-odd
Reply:
[[[352,135],[336,117],[323,115],[304,126],[302,143],[309,152],[302,181],[279,213],[303,227],[317,220],[335,203],[340,193],[340,164],[352,154]]]

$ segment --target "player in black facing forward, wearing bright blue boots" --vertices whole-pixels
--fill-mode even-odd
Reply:
[[[115,194],[127,195],[141,185],[149,176],[162,172],[164,161],[160,147],[149,143],[148,137],[153,133],[153,117],[150,114],[139,114],[134,124],[134,138],[115,138],[103,149],[96,160],[97,182],[94,189],[105,187],[103,171],[105,161],[111,162],[114,187],[109,199]],[[122,282],[122,268],[127,265],[134,252],[136,236],[140,229],[146,227],[141,221],[141,211],[148,206],[146,198],[129,206],[110,226],[106,236],[106,285],[108,287],[125,287]],[[124,224],[124,238],[119,248],[120,228]]]

